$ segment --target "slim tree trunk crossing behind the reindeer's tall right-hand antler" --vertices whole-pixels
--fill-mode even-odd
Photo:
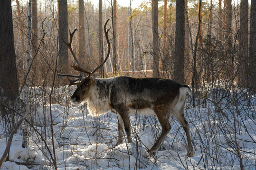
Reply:
[[[99,63],[103,62],[103,29],[102,29],[102,0],[99,0],[99,30],[98,30],[98,36],[99,36]],[[100,75],[102,78],[104,78],[104,65],[100,68]]]

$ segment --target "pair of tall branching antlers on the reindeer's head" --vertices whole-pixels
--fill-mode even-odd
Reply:
[[[68,47],[68,49],[70,50],[72,56],[73,56],[74,59],[76,60],[77,65],[72,64],[72,67],[73,67],[76,71],[79,71],[79,72],[80,72],[79,76],[66,75],[66,74],[58,74],[58,76],[67,76],[67,79],[68,79],[68,81],[70,82],[69,85],[79,85],[82,81],[80,81],[80,82],[78,82],[78,83],[75,83],[75,82],[78,81],[78,80],[82,80],[82,79],[83,79],[82,73],[86,73],[86,74],[88,74],[87,77],[90,77],[92,74],[95,73],[95,71],[97,71],[100,67],[102,67],[102,66],[104,65],[104,63],[106,62],[106,60],[108,59],[109,54],[110,54],[110,42],[109,42],[109,39],[108,39],[108,31],[110,30],[110,27],[109,27],[108,30],[106,30],[106,26],[107,26],[108,21],[109,21],[109,19],[106,21],[106,23],[105,23],[105,25],[104,25],[104,34],[105,34],[106,41],[107,41],[107,45],[108,45],[107,55],[106,55],[106,58],[104,59],[104,61],[103,61],[97,68],[95,68],[92,72],[86,71],[86,70],[84,70],[84,69],[82,68],[82,66],[80,65],[78,59],[76,58],[76,55],[75,55],[74,51],[72,50],[71,44],[72,44],[72,40],[73,40],[73,35],[75,34],[75,32],[76,32],[77,29],[75,29],[75,30],[73,31],[73,33],[71,33],[70,30],[69,30],[70,40],[69,40],[68,43],[67,43],[66,41],[64,41],[63,37],[61,36],[62,41],[67,45],[67,47]],[[76,78],[78,78],[78,79],[76,79],[76,80],[70,80],[68,77],[76,77]]]

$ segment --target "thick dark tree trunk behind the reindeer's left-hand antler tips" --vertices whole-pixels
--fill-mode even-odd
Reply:
[[[67,2],[58,0],[58,20],[59,20],[59,71],[66,73],[68,66],[68,47],[62,41],[67,42]],[[61,38],[62,37],[62,38]]]

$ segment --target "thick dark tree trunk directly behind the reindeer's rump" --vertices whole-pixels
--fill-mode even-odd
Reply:
[[[185,2],[176,0],[176,29],[174,47],[173,79],[184,83],[184,49],[185,49]]]

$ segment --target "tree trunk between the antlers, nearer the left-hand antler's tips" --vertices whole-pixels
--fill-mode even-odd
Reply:
[[[84,0],[78,0],[78,12],[79,12],[79,58],[85,59],[85,10]]]

